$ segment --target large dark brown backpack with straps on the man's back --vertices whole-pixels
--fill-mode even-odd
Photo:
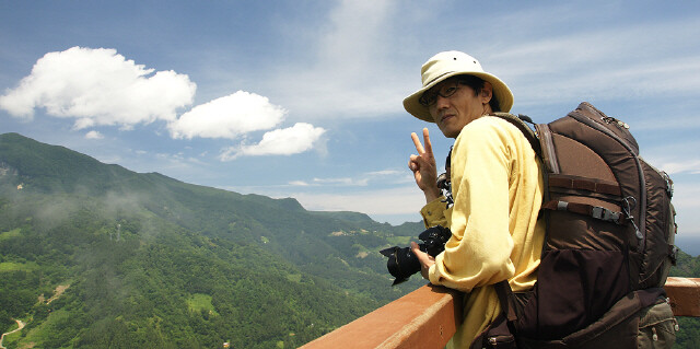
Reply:
[[[627,124],[586,102],[535,132],[527,117],[495,116],[530,141],[547,187],[535,288],[514,295],[497,284],[505,324],[521,347],[602,348],[599,339],[665,294],[677,253],[673,182],[640,158]]]

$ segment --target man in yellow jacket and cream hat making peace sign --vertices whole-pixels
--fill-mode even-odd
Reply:
[[[468,347],[499,315],[493,284],[509,280],[514,292],[530,290],[539,265],[544,224],[538,222],[544,183],[540,164],[524,135],[493,112],[509,112],[513,94],[458,51],[440,53],[421,69],[422,88],[404,100],[415,117],[435,123],[454,138],[451,183],[454,205],[446,207],[435,184],[436,164],[428,129],[409,168],[425,195],[425,226],[450,228],[452,237],[435,258],[416,243],[422,275],[433,284],[467,292],[465,318],[452,346]],[[479,344],[479,348],[481,348]]]

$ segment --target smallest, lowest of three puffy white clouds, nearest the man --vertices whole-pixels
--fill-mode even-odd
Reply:
[[[326,130],[320,127],[314,127],[306,123],[298,123],[290,128],[266,132],[262,136],[262,140],[257,144],[246,146],[242,143],[238,147],[226,148],[221,152],[219,159],[230,161],[242,155],[298,154],[312,149],[324,132],[326,132]]]

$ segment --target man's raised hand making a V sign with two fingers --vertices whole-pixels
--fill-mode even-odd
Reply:
[[[440,197],[440,189],[438,188],[438,166],[435,165],[435,158],[433,156],[433,148],[430,143],[430,135],[428,128],[423,128],[423,144],[416,132],[411,133],[413,144],[418,155],[412,154],[408,160],[408,168],[413,172],[416,178],[416,185],[425,195],[425,202],[430,202]]]

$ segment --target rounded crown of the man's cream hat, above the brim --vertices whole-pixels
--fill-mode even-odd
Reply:
[[[421,82],[428,86],[441,77],[453,72],[483,72],[479,61],[460,51],[440,53],[430,59],[421,68]]]

